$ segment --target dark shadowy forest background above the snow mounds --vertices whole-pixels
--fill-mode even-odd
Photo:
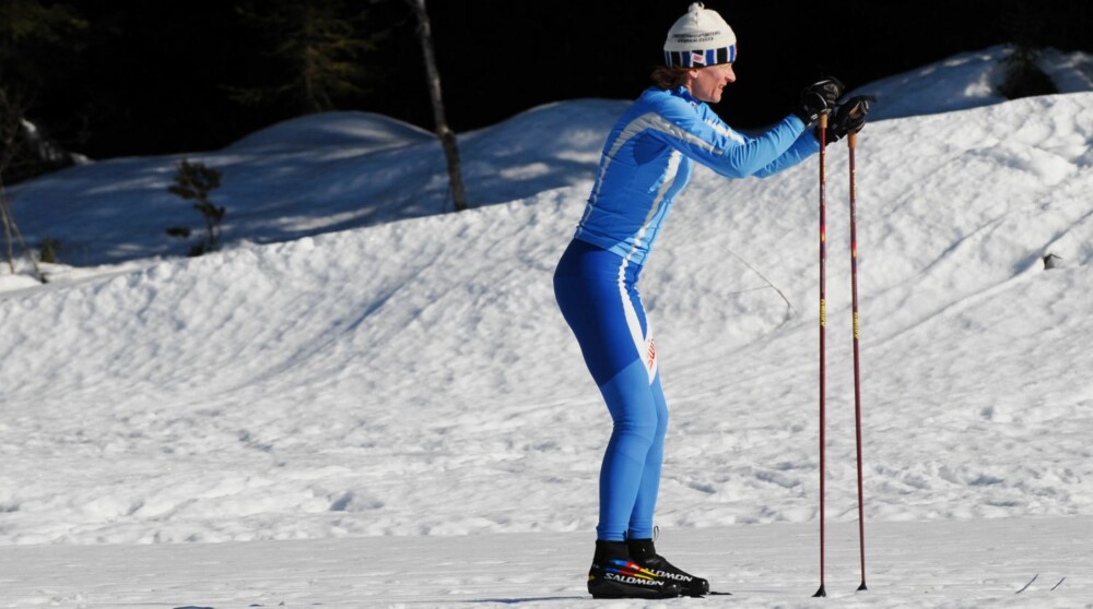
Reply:
[[[0,83],[17,80],[30,94],[27,118],[92,158],[214,150],[326,109],[433,129],[404,0],[0,2],[9,11],[61,8],[71,17],[54,23],[52,36],[5,38]],[[427,0],[449,124],[463,132],[549,101],[635,97],[689,3]],[[853,88],[1002,43],[1093,52],[1090,0],[705,4],[739,38],[739,81],[716,110],[744,129],[785,116],[821,75]],[[315,11],[328,26],[341,24],[332,31],[343,45],[326,50],[344,81],[317,100],[293,55],[308,52],[301,23]]]

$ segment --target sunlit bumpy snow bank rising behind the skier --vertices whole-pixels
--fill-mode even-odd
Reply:
[[[1091,140],[1090,93],[862,133],[869,520],[1093,513]],[[828,160],[839,522],[845,150]],[[815,178],[697,171],[643,275],[674,413],[662,527],[816,517]],[[609,419],[550,290],[589,186],[9,292],[0,542],[590,530]]]

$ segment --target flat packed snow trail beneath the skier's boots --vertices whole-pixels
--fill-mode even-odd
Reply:
[[[855,592],[857,526],[838,524],[825,599],[810,598],[816,530],[801,524],[666,533],[658,549],[732,595],[665,601],[593,601],[584,533],[16,547],[0,551],[0,607],[1073,609],[1093,606],[1082,542],[1091,526],[1088,517],[870,523],[869,589]]]

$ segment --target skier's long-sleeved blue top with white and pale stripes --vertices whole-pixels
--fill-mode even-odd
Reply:
[[[691,179],[691,159],[729,178],[763,178],[819,151],[819,140],[794,115],[749,138],[685,87],[650,87],[608,135],[574,238],[644,264],[672,200]]]

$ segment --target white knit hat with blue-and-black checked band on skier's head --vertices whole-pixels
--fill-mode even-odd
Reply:
[[[668,31],[666,65],[694,68],[732,63],[736,59],[737,35],[717,11],[705,9],[702,2],[691,4]]]

